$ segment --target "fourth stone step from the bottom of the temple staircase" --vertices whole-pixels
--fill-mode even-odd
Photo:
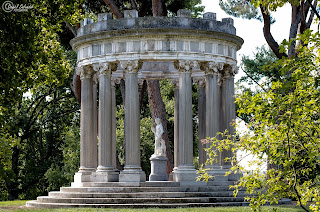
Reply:
[[[193,186],[193,187],[61,187],[61,192],[81,193],[137,193],[137,192],[215,192],[232,191],[229,186]]]

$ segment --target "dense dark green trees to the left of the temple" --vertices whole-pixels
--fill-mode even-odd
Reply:
[[[57,32],[79,21],[81,2],[12,4],[32,8],[0,13],[0,199],[45,191],[44,174],[59,163],[64,127],[79,109],[69,88],[74,53]]]

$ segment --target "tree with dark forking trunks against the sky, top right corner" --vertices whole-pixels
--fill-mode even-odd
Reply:
[[[235,17],[263,21],[265,40],[279,59],[297,56],[296,47],[300,43],[296,39],[297,36],[310,29],[315,17],[320,19],[319,10],[317,9],[318,0],[219,0],[219,4],[223,10]],[[286,50],[283,50],[279,48],[279,43],[271,33],[271,26],[275,21],[271,14],[285,4],[290,4],[292,13],[291,23],[288,23],[290,24],[290,32],[287,38],[287,42],[290,45]]]

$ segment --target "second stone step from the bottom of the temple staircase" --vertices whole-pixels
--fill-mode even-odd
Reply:
[[[215,202],[243,202],[243,197],[184,197],[184,198],[55,198],[38,197],[43,203],[71,203],[71,204],[159,204],[159,203],[215,203]]]

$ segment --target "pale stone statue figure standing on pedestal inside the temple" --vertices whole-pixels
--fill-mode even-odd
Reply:
[[[156,128],[151,127],[152,132],[155,136],[154,143],[154,154],[157,156],[166,156],[166,144],[162,139],[163,127],[161,124],[161,120],[159,118],[155,119]]]

